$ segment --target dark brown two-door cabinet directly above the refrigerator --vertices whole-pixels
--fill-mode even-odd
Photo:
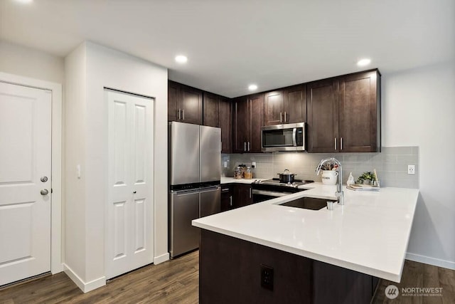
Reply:
[[[168,120],[202,125],[202,90],[169,80]]]

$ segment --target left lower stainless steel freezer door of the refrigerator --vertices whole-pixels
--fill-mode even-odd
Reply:
[[[169,253],[171,258],[199,247],[199,229],[191,226],[199,217],[199,191],[169,194]]]

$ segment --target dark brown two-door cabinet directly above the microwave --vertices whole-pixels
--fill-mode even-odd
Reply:
[[[264,125],[306,122],[306,85],[264,94]]]

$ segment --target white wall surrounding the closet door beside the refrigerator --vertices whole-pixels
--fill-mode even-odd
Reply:
[[[85,291],[98,287],[97,284],[104,280],[105,276],[105,204],[107,200],[107,105],[104,100],[104,88],[114,88],[129,93],[136,93],[155,98],[154,117],[154,258],[155,263],[168,258],[168,226],[167,226],[167,69],[139,58],[129,56],[110,48],[99,46],[95,43],[83,43],[76,51],[66,58],[68,64],[75,53],[85,50],[86,56],[86,90],[85,95],[75,96],[77,92],[71,92],[70,86],[75,81],[70,81],[70,75],[76,73],[66,70],[68,80],[68,103],[83,103],[83,111],[70,112],[67,117],[75,115],[73,121],[78,121],[80,132],[84,135],[82,141],[85,144],[83,152],[67,155],[68,177],[75,176],[75,164],[80,162],[82,166],[81,180],[85,184],[85,194],[80,201],[73,200],[68,204],[77,204],[75,209],[82,210],[81,219],[77,220],[75,227],[67,226],[67,229],[81,229],[82,239],[77,239],[73,232],[67,234],[67,244],[85,243],[85,247],[69,248],[75,250],[75,256],[81,256],[85,269],[76,273],[87,284]],[[77,82],[76,82],[77,83]],[[68,121],[68,123],[70,120]],[[70,142],[77,143],[76,125],[67,125],[75,130],[67,132],[67,147]],[[84,129],[85,128],[85,129]],[[82,160],[80,160],[82,159]],[[68,181],[68,196],[70,189],[77,188]],[[82,206],[79,206],[82,205]],[[69,207],[69,206],[68,206]],[[71,216],[70,212],[67,216]],[[84,226],[82,227],[80,226]],[[69,231],[68,231],[69,232]],[[73,235],[73,236],[72,236]],[[69,239],[72,236],[72,239]],[[73,261],[67,260],[68,263]],[[76,263],[76,262],[75,262]],[[68,264],[73,269],[72,264]],[[74,269],[73,269],[74,271]],[[97,282],[92,284],[94,282]],[[92,284],[92,285],[90,285]],[[88,286],[88,287],[87,287]],[[92,287],[91,287],[92,286]]]

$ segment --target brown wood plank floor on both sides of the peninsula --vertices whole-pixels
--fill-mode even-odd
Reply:
[[[82,293],[73,281],[58,273],[34,281],[0,288],[1,304],[18,303],[198,303],[199,253],[146,266]],[[442,288],[442,296],[385,296],[387,285],[401,288]],[[381,280],[373,304],[455,303],[455,271],[412,261],[405,262],[400,284]]]

